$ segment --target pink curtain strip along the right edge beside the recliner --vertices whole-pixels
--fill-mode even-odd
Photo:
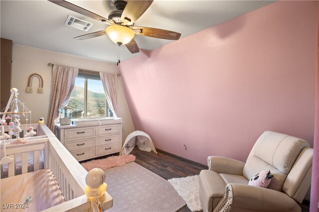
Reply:
[[[318,7],[319,14],[319,7]],[[314,159],[311,181],[310,211],[319,212],[319,15],[317,33],[317,74],[316,74],[316,112],[315,112],[315,139]]]

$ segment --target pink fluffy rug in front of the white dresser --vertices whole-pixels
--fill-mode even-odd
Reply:
[[[121,156],[111,156],[103,159],[90,160],[88,162],[81,163],[81,165],[87,171],[90,171],[93,168],[100,168],[102,170],[105,170],[114,166],[122,166],[134,160],[135,156],[133,154],[124,154]]]

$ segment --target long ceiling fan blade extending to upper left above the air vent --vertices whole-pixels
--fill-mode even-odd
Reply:
[[[64,8],[70,9],[70,10],[72,10],[74,12],[79,13],[79,14],[85,15],[87,17],[93,18],[95,20],[99,20],[99,21],[105,22],[105,23],[107,23],[109,25],[113,24],[113,22],[108,20],[107,18],[102,17],[102,16],[100,16],[98,14],[95,14],[94,12],[91,12],[91,11],[89,11],[87,9],[84,9],[84,8],[82,8],[80,6],[77,6],[77,5],[73,4],[73,3],[70,3],[68,1],[65,1],[65,0],[48,0],[48,1],[51,1],[52,3],[55,3],[55,4],[59,5],[59,6],[64,7]]]

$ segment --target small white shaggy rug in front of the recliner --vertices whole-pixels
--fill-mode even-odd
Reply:
[[[168,182],[174,187],[179,196],[186,202],[190,211],[201,211],[199,200],[199,183],[198,175],[172,178]]]

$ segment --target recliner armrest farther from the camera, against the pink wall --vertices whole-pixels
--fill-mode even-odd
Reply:
[[[208,169],[217,173],[243,175],[245,163],[228,157],[208,156]]]

